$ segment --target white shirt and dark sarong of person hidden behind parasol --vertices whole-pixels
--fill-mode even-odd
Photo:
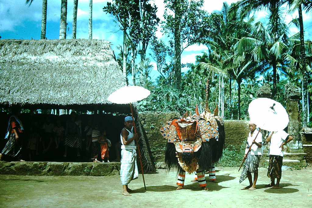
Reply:
[[[280,145],[286,142],[289,134],[284,130],[274,132],[271,136],[270,148],[269,148],[269,167],[267,176],[269,178],[281,178],[282,177],[282,165],[283,165],[283,151]]]

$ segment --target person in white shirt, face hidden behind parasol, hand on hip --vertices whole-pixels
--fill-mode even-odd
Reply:
[[[271,187],[271,189],[280,188],[280,178],[282,176],[282,165],[283,165],[283,147],[284,144],[289,143],[294,138],[286,133],[284,130],[272,131],[270,135],[266,138],[266,142],[270,142],[269,148],[269,167],[268,167],[268,177],[271,178],[271,183],[265,185],[266,187]],[[276,178],[276,184],[275,184]]]

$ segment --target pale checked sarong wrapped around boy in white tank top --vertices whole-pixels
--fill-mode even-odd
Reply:
[[[122,185],[128,185],[131,180],[139,177],[136,151],[121,150],[120,180]]]

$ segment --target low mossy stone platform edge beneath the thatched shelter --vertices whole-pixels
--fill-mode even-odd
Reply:
[[[31,176],[119,175],[120,162],[0,162],[0,174]]]

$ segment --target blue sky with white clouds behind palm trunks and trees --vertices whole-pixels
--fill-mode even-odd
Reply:
[[[237,0],[228,0],[228,4],[236,2]],[[78,1],[78,14],[77,14],[77,34],[76,38],[88,38],[88,16],[89,16],[89,0]],[[122,45],[122,32],[114,22],[114,17],[110,14],[103,12],[103,7],[106,5],[107,0],[93,0],[93,22],[92,33],[93,39],[104,39],[110,41],[115,55],[119,53],[118,46]],[[110,1],[111,2],[111,1]],[[151,1],[158,7],[158,17],[163,20],[164,5],[163,0]],[[68,28],[67,39],[72,37],[72,10],[73,1],[67,2],[67,22]],[[204,9],[207,12],[213,10],[221,10],[223,1],[206,0]],[[25,0],[0,0],[0,36],[1,39],[40,39],[41,33],[41,8],[42,1],[34,0],[31,6],[25,5]],[[48,0],[47,5],[47,24],[46,24],[46,37],[47,39],[59,39],[59,24],[61,14],[61,0]],[[264,22],[267,16],[266,12],[257,12],[256,21]],[[285,16],[285,22],[288,23],[297,14]],[[310,14],[304,14],[304,23],[306,30],[306,38],[311,39],[312,33],[312,18]],[[298,30],[290,27],[291,34],[295,34]],[[160,27],[156,32],[158,38],[165,39],[160,32]],[[195,56],[207,52],[206,46],[193,45],[189,46],[183,51],[181,56],[182,63],[194,63]],[[152,61],[152,64],[155,63]],[[187,69],[184,69],[187,70]],[[154,67],[154,76],[158,75],[156,67]],[[155,77],[154,77],[155,78]]]

